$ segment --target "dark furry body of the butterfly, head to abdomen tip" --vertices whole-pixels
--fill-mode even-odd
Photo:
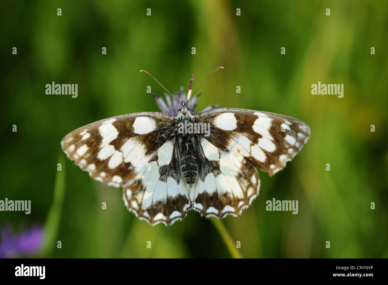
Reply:
[[[194,116],[183,103],[177,116],[176,142],[180,156],[180,172],[187,185],[192,187],[198,175],[197,134],[193,131]]]

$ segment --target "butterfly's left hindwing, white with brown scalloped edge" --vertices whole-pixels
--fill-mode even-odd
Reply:
[[[171,225],[184,219],[191,205],[175,148],[175,138],[167,140],[124,188],[123,200],[128,210],[150,225]]]

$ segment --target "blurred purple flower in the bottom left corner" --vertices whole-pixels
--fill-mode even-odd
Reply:
[[[1,231],[0,258],[16,258],[37,254],[44,240],[43,228],[32,226],[19,234],[4,226]]]

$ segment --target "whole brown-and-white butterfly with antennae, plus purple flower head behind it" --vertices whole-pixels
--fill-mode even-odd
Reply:
[[[274,175],[310,137],[306,123],[270,112],[215,105],[196,114],[192,81],[187,97],[182,88],[178,98],[165,88],[175,101],[153,95],[163,112],[103,119],[61,141],[94,180],[122,187],[125,206],[150,225],[171,225],[190,209],[239,216],[259,194],[256,167]]]

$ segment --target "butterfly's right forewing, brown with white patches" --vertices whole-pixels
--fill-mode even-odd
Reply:
[[[270,176],[282,170],[310,137],[306,123],[270,112],[213,109],[197,114],[197,119],[211,124],[207,139],[220,151],[240,154]]]

